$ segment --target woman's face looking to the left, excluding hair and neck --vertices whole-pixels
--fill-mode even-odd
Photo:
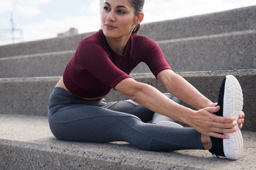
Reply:
[[[128,0],[105,0],[102,9],[102,30],[107,38],[130,35],[137,24],[134,7]]]

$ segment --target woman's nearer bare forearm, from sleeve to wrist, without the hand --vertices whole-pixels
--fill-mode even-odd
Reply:
[[[121,81],[115,89],[132,99],[132,101],[149,108],[151,111],[161,113],[183,123],[186,122],[187,113],[195,112],[190,108],[186,108],[170,100],[153,86],[135,81],[131,78]]]

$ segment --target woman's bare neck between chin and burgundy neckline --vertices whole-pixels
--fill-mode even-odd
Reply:
[[[116,52],[119,55],[123,55],[124,54],[124,49],[127,45],[127,42],[129,40],[131,35],[129,36],[125,36],[122,38],[107,38],[107,43],[108,45],[110,45],[110,47],[112,48],[112,50],[114,52]]]

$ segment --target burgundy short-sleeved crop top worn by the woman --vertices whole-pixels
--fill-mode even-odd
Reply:
[[[145,62],[155,77],[162,70],[171,69],[154,40],[132,34],[124,55],[118,55],[107,44],[102,30],[99,30],[80,41],[65,68],[63,81],[68,91],[76,96],[105,96],[120,81],[130,78],[129,73],[139,62]]]

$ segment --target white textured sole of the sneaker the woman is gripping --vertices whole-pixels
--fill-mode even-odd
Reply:
[[[223,117],[233,116],[238,122],[242,111],[242,89],[238,80],[232,75],[228,75],[225,81],[225,90],[223,97]],[[223,140],[223,149],[225,157],[228,159],[239,159],[242,153],[242,133],[238,125],[235,126],[236,132],[224,133],[229,139]]]

